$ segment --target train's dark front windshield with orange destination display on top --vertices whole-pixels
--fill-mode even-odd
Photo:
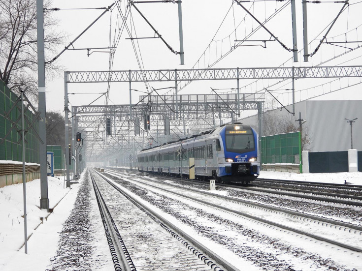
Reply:
[[[225,141],[227,151],[244,153],[255,150],[252,130],[226,131]]]

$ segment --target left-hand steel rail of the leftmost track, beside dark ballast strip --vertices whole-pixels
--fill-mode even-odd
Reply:
[[[131,256],[89,170],[115,271],[136,271]],[[120,261],[121,260],[121,261]]]

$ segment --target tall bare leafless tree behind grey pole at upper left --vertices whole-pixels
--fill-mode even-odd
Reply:
[[[44,14],[44,44],[46,54],[54,55],[65,35],[55,31],[57,21],[49,15]],[[18,87],[28,87],[32,102],[37,101],[36,39],[36,0],[0,0],[0,79],[15,93]],[[59,68],[47,65],[47,76]]]

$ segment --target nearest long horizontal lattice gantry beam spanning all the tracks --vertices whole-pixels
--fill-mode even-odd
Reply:
[[[69,71],[67,83],[361,77],[362,66]]]

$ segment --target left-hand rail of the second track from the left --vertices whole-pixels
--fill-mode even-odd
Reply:
[[[127,178],[129,178],[129,177],[127,177]],[[334,241],[334,240],[331,240],[331,239],[328,239],[328,238],[317,236],[317,235],[314,235],[314,234],[311,234],[311,233],[308,233],[308,232],[305,232],[305,231],[294,229],[294,228],[289,227],[289,226],[285,226],[285,225],[282,225],[282,224],[279,224],[279,223],[276,223],[276,222],[273,222],[273,221],[269,221],[269,220],[266,220],[266,219],[263,219],[263,218],[260,218],[260,217],[254,216],[254,215],[247,214],[245,212],[235,211],[235,210],[231,210],[231,209],[226,208],[226,207],[221,207],[219,205],[212,204],[212,203],[209,203],[209,202],[206,202],[206,201],[203,201],[203,200],[195,199],[193,197],[186,196],[186,195],[183,195],[183,194],[180,194],[180,193],[177,193],[177,192],[169,191],[169,190],[166,190],[166,189],[161,188],[161,187],[157,187],[157,186],[152,185],[152,184],[143,183],[141,181],[137,181],[137,180],[133,180],[133,179],[132,179],[132,181],[136,181],[136,182],[142,183],[144,185],[148,185],[150,187],[153,187],[153,188],[156,188],[156,189],[159,189],[159,190],[171,193],[171,194],[175,194],[177,196],[187,198],[187,199],[192,200],[192,201],[202,203],[204,205],[212,206],[212,207],[214,207],[216,209],[220,209],[222,211],[228,211],[228,212],[231,212],[231,213],[236,213],[238,215],[245,216],[245,217],[248,217],[248,218],[263,222],[263,223],[268,224],[268,225],[276,226],[276,227],[279,227],[279,228],[284,229],[284,230],[288,230],[288,231],[295,232],[295,233],[298,233],[298,234],[301,234],[301,235],[305,235],[305,236],[314,238],[314,239],[319,240],[319,241],[325,241],[325,242],[328,242],[328,243],[331,243],[331,244],[334,244],[334,245],[338,245],[340,247],[347,248],[347,249],[350,249],[350,250],[353,250],[353,251],[356,251],[356,252],[362,252],[362,248],[360,248],[360,247],[351,246],[351,245],[348,245],[348,244],[345,244],[345,243],[341,243],[341,242]],[[147,180],[147,181],[149,181],[149,180]],[[197,191],[197,192],[199,192],[199,191]],[[215,196],[215,194],[213,194],[213,196]],[[217,196],[219,196],[219,195],[217,195]],[[234,199],[231,198],[231,200],[234,200]]]

